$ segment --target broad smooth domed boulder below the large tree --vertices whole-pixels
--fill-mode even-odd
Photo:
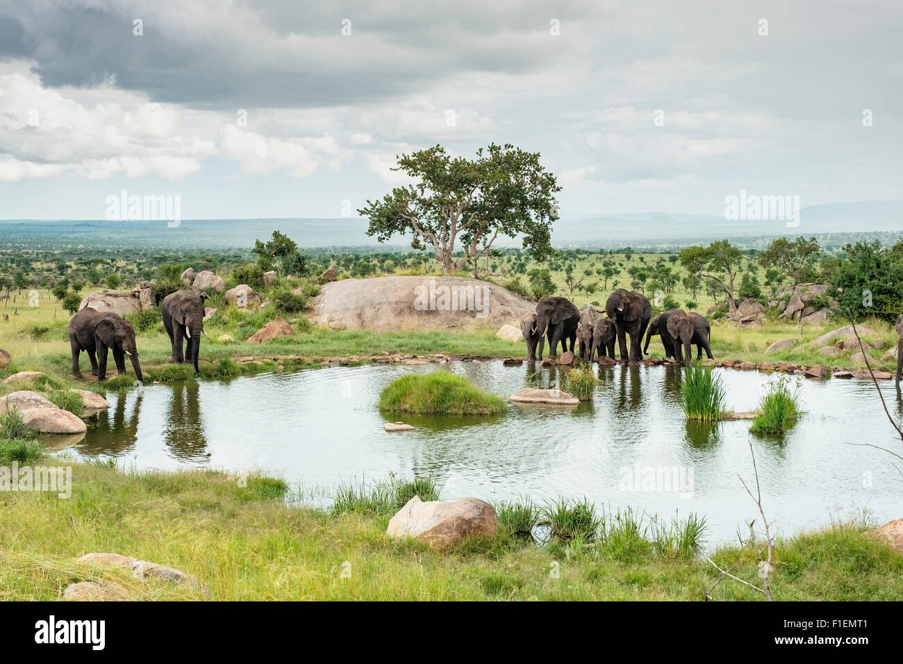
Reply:
[[[500,285],[461,276],[379,276],[323,285],[312,300],[318,323],[349,330],[442,330],[470,324],[497,329],[535,304]]]

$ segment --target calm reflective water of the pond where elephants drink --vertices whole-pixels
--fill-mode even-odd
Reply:
[[[591,404],[577,408],[511,405],[506,415],[489,419],[380,413],[379,391],[388,382],[433,370],[451,370],[507,397],[535,369],[500,361],[452,362],[443,369],[366,365],[152,385],[142,396],[111,392],[112,406],[90,418],[76,449],[82,457],[114,457],[139,469],[260,470],[326,494],[341,482],[396,472],[432,474],[444,485],[445,499],[530,496],[542,502],[585,495],[610,509],[663,516],[695,511],[707,517],[715,542],[735,538],[746,530],[744,521],[759,519],[740,483],[740,476],[753,481],[751,441],[766,514],[783,534],[863,509],[880,522],[903,516],[903,478],[893,457],[853,445],[899,449],[866,381],[804,380],[807,413],[783,437],[749,435],[745,421],[687,423],[680,370],[672,367],[600,367],[602,386]],[[545,387],[557,369],[538,370]],[[725,381],[729,407],[756,407],[768,376],[713,370]],[[883,389],[898,416],[897,391],[892,383]],[[398,419],[417,428],[383,431]]]

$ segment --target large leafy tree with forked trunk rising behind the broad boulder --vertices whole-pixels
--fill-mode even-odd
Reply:
[[[470,265],[474,276],[489,273],[492,243],[499,235],[523,236],[536,261],[553,252],[551,224],[558,219],[554,193],[561,187],[539,164],[538,153],[514,145],[480,148],[475,159],[453,157],[441,145],[402,154],[393,171],[419,180],[396,187],[381,201],[358,210],[370,220],[368,236],[385,242],[396,233],[413,236],[411,246],[435,249],[445,274]],[[461,240],[463,257],[453,258]]]

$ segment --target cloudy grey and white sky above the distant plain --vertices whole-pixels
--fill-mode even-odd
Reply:
[[[899,0],[0,0],[0,219],[339,217],[436,143],[540,152],[564,215],[901,199],[901,33]]]

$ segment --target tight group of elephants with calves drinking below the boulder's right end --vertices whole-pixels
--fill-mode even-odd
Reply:
[[[527,313],[520,323],[526,340],[527,360],[543,359],[545,339],[549,341],[549,357],[556,357],[559,341],[562,351],[570,342],[574,351],[579,341],[577,354],[585,362],[608,356],[615,360],[615,341],[618,342],[621,362],[636,363],[643,359],[649,349],[649,341],[656,334],[661,337],[666,357],[675,358],[686,366],[693,356],[692,346],[696,345],[696,359],[705,351],[713,359],[709,343],[712,328],[699,313],[686,313],[682,309],[669,309],[652,318],[652,305],[646,295],[619,288],[609,296],[605,311],[592,304],[584,304],[579,310],[566,297],[542,297],[536,303],[536,311]],[[643,335],[646,343],[642,349]],[[628,351],[627,337],[630,337]],[[537,358],[538,351],[538,358]]]

